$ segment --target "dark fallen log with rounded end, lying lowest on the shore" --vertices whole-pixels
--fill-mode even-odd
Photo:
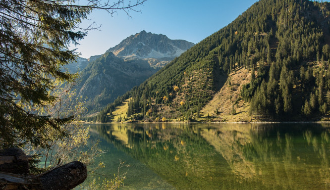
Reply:
[[[0,190],[71,190],[86,178],[86,166],[73,161],[38,176],[0,172]]]

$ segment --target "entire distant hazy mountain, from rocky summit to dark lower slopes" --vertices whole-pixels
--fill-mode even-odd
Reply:
[[[174,58],[172,56],[180,55],[194,45],[184,40],[170,40],[164,35],[145,31],[136,34],[133,39],[132,37],[110,48],[105,54],[91,56],[88,60],[80,58],[77,63],[69,65],[69,70],[81,71],[75,90],[78,97],[87,97],[86,107],[89,113],[100,111],[115,98],[140,85],[164,67]],[[144,46],[140,46],[141,43]],[[150,49],[154,54],[142,56],[142,52]],[[154,49],[163,54],[155,54]],[[85,68],[81,70],[83,66]]]

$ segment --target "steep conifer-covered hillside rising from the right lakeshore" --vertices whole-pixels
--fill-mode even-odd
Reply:
[[[105,115],[129,97],[127,116],[137,120],[239,121],[247,112],[246,121],[329,119],[329,34],[329,2],[260,0],[90,119],[110,121]],[[242,67],[250,81],[224,89]],[[210,101],[225,93],[230,103]],[[210,107],[217,114],[205,115]]]

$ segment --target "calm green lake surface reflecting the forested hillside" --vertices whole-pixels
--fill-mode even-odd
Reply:
[[[330,189],[329,123],[90,126],[124,190]]]

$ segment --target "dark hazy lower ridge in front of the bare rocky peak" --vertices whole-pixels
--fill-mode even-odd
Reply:
[[[88,97],[87,108],[97,111],[95,108],[107,105],[156,71],[147,61],[124,61],[108,52],[81,71],[75,89],[78,90],[78,96]]]

